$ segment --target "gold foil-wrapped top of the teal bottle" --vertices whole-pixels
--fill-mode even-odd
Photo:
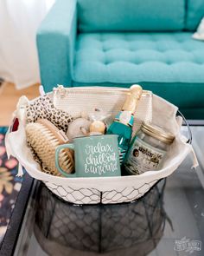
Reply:
[[[131,111],[131,113],[133,114],[135,112],[135,109],[137,108],[137,103],[139,102],[142,94],[143,89],[140,85],[132,85],[130,88],[130,95],[127,96],[122,109],[126,111]]]

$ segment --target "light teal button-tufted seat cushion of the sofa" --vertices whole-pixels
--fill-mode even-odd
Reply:
[[[204,43],[191,33],[84,33],[77,38],[73,81],[201,82]]]

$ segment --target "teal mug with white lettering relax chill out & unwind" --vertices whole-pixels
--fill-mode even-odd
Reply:
[[[61,149],[74,150],[75,173],[67,174],[59,165]],[[95,135],[73,139],[73,143],[58,146],[55,165],[66,177],[120,176],[118,135]]]

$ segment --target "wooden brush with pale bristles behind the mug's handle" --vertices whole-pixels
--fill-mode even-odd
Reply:
[[[41,119],[26,126],[27,141],[35,160],[41,163],[42,171],[61,176],[55,167],[55,149],[67,142],[67,136],[50,121]],[[59,155],[61,168],[70,174],[73,171],[73,151],[65,148]]]

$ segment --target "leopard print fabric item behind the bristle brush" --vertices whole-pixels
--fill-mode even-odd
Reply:
[[[65,133],[67,133],[69,123],[73,121],[72,115],[54,107],[48,95],[41,96],[26,107],[26,120],[28,122],[35,122],[39,118],[48,119]]]

